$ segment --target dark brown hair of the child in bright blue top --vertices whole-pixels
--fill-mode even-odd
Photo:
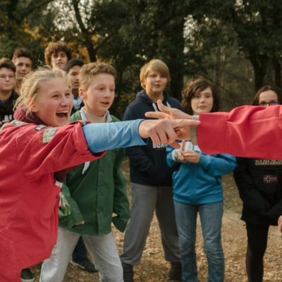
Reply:
[[[182,92],[182,106],[187,114],[193,114],[191,100],[195,97],[195,95],[199,92],[202,92],[207,87],[212,89],[212,97],[214,98],[214,104],[212,106],[212,113],[215,111],[219,111],[220,108],[220,100],[219,95],[216,92],[216,88],[214,85],[207,80],[197,79],[188,84],[188,86]]]

